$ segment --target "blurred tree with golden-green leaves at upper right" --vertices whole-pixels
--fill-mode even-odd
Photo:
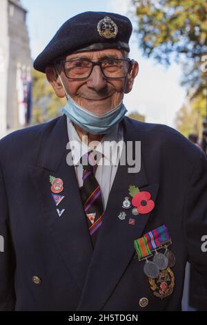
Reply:
[[[186,86],[191,117],[205,116],[207,86],[207,2],[204,0],[132,0],[138,19],[137,37],[144,55],[169,65],[173,59],[183,67],[181,85]],[[203,66],[203,67],[202,67]],[[187,111],[185,111],[187,113]],[[180,115],[184,114],[184,107]],[[188,115],[189,117],[189,115]],[[177,116],[178,118],[178,116]],[[180,125],[180,116],[179,127]],[[200,119],[201,120],[201,119]],[[186,121],[183,121],[185,125]],[[188,119],[193,127],[194,121]],[[201,122],[200,122],[201,127]],[[199,127],[199,129],[200,129]],[[185,129],[186,127],[184,127]],[[194,127],[193,127],[194,128]]]

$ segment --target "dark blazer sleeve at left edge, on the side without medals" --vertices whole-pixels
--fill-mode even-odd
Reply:
[[[8,203],[0,165],[0,310],[14,310],[14,250],[10,236]]]

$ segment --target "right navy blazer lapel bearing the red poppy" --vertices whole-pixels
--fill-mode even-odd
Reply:
[[[139,140],[134,138],[133,131],[136,130],[128,128],[124,123],[125,142]],[[148,214],[135,216],[135,225],[128,224],[128,219],[119,220],[118,218],[121,211],[126,212],[130,218],[133,217],[131,210],[125,210],[122,207],[125,196],[129,196],[129,185],[135,185],[141,190],[150,192],[152,200],[156,199],[159,184],[148,184],[143,156],[142,154],[139,173],[129,174],[128,165],[119,165],[117,169],[77,310],[101,310],[103,308],[135,254],[134,240],[144,233],[148,220],[152,218],[153,210]]]

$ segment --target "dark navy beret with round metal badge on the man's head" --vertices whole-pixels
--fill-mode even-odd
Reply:
[[[128,17],[111,12],[83,12],[68,19],[46,48],[34,60],[34,68],[43,73],[63,55],[80,50],[118,48],[129,52],[132,24]]]

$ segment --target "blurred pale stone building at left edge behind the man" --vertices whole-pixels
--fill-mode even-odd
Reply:
[[[31,116],[30,44],[27,11],[20,0],[0,4],[0,138],[25,127]]]

